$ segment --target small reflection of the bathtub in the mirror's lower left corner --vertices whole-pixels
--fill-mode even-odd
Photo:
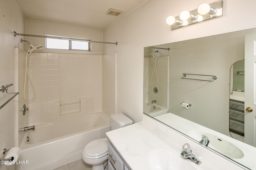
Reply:
[[[143,112],[151,117],[156,117],[168,113],[168,110],[156,104],[144,103]]]

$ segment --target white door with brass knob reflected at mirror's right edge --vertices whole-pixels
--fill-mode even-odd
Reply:
[[[244,52],[244,140],[256,147],[256,33],[245,35]]]

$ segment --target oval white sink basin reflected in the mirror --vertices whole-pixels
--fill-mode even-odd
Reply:
[[[222,139],[216,135],[205,133],[202,131],[190,131],[189,137],[192,137],[196,141],[201,141],[202,135],[206,135],[210,140],[209,148],[216,150],[217,152],[224,154],[231,159],[240,159],[244,157],[244,152],[236,147],[234,144]]]

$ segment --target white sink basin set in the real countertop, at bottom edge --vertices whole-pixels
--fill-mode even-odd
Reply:
[[[188,163],[180,154],[164,149],[151,150],[147,155],[147,163],[150,170],[196,170],[193,162]]]

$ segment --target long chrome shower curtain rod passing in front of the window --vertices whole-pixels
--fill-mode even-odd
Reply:
[[[103,43],[103,44],[115,44],[115,45],[118,44],[117,42],[110,43],[110,42],[90,41],[90,40],[82,39],[82,38],[67,38],[67,37],[54,37],[54,36],[21,34],[21,33],[16,33],[15,31],[13,32],[13,35],[14,35],[14,37],[16,37],[16,35],[21,35],[21,36],[27,36],[27,37],[53,38],[53,39],[64,39],[64,40],[78,40],[78,41],[85,41],[85,42],[89,42],[89,43]]]

